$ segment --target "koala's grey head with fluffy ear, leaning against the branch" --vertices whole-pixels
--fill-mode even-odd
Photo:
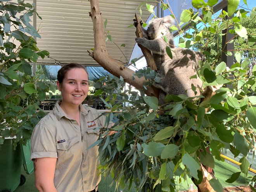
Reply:
[[[170,27],[174,24],[174,19],[171,16],[152,19],[147,28],[147,38],[154,40],[163,34],[170,33]]]

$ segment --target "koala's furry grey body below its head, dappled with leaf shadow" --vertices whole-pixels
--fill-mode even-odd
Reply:
[[[167,54],[163,57],[161,67],[158,70],[163,78],[154,86],[160,88],[159,104],[164,104],[166,93],[179,95],[185,94],[188,97],[200,95],[202,80],[196,76],[198,62],[204,61],[204,56],[200,52],[195,52],[188,48],[173,48],[173,59]],[[196,87],[196,94],[192,90],[192,84]]]

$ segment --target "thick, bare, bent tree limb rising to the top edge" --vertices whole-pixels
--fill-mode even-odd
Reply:
[[[89,55],[106,69],[109,73],[116,77],[122,76],[124,81],[137,89],[143,88],[143,83],[147,82],[145,78],[133,77],[135,71],[124,66],[121,62],[113,59],[107,52],[105,35],[104,35],[104,25],[99,9],[98,0],[90,0],[91,12],[89,13],[92,17],[93,22],[93,33],[94,33],[94,50],[93,52],[88,51]],[[159,89],[154,86],[147,86],[147,90],[144,90],[146,95],[155,96],[158,98]]]

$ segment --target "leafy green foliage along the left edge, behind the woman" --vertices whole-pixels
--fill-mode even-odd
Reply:
[[[5,137],[14,137],[26,143],[39,118],[45,112],[39,110],[45,93],[55,91],[48,82],[38,81],[32,74],[31,62],[44,58],[49,52],[40,51],[33,37],[40,38],[30,24],[35,12],[33,6],[18,0],[18,3],[0,2],[0,144]]]

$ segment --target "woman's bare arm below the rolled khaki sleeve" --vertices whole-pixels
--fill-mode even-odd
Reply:
[[[35,184],[40,192],[57,192],[54,173],[57,158],[43,157],[34,160]]]

